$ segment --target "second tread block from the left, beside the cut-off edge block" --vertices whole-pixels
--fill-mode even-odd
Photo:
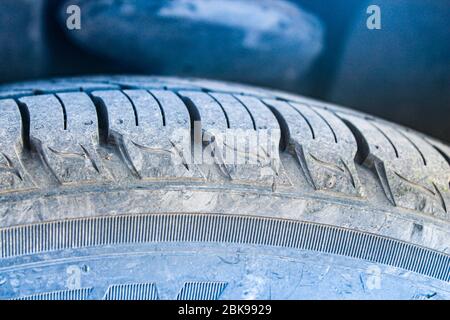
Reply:
[[[107,178],[95,151],[95,106],[86,94],[40,95],[20,102],[29,112],[30,141],[59,183],[93,183]]]

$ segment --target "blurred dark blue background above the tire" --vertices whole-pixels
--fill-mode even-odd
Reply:
[[[450,0],[0,0],[0,83],[82,74],[254,84],[450,142]]]

